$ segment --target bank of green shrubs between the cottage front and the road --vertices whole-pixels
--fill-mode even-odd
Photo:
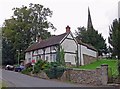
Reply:
[[[33,70],[31,64],[27,64],[26,66],[26,69],[22,71],[23,74],[29,74]],[[64,69],[65,68],[57,62],[48,63],[43,60],[38,60],[34,65],[33,73],[37,74],[43,70],[50,79],[57,79],[62,76]]]

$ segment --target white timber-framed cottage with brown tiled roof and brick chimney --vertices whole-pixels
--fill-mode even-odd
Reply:
[[[46,40],[40,39],[28,47],[25,51],[26,63],[33,60],[36,62],[39,59],[55,62],[60,46],[64,49],[65,62],[71,65],[76,65],[76,54],[78,55],[79,65],[89,64],[97,58],[96,49],[88,44],[77,41],[70,31],[70,27],[67,26],[65,33]]]

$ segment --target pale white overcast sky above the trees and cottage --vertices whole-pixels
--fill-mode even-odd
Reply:
[[[69,25],[71,32],[78,27],[87,27],[88,7],[90,8],[93,27],[102,34],[104,39],[109,36],[109,26],[113,20],[118,18],[118,2],[120,0],[0,0],[0,27],[5,19],[13,15],[12,8],[29,6],[30,3],[42,4],[53,11],[52,18],[48,21],[57,28],[52,34],[58,35],[65,32]],[[108,42],[107,42],[108,43]]]

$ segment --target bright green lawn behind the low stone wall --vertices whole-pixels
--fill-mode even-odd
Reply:
[[[112,59],[99,59],[91,64],[80,66],[80,69],[96,69],[97,67],[100,67],[102,64],[107,64],[109,68],[109,73],[111,73],[113,76],[116,76],[118,74],[117,72],[117,60]]]

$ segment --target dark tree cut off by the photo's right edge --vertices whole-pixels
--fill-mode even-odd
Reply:
[[[112,54],[118,58],[118,73],[120,77],[120,19],[113,20],[109,29],[108,41],[110,43]]]

